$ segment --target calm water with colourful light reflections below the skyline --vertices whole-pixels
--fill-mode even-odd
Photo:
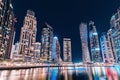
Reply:
[[[0,80],[120,80],[120,67],[1,70]]]

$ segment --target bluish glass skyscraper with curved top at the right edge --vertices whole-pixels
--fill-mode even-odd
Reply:
[[[111,17],[110,25],[112,29],[112,47],[115,62],[120,63],[120,9]]]

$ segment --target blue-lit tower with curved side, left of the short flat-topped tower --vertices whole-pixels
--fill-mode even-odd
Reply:
[[[55,62],[61,62],[62,59],[60,57],[60,43],[57,37],[53,39],[53,50],[52,50],[52,59]]]

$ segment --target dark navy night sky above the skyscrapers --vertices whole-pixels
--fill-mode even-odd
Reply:
[[[120,6],[120,0],[12,0],[14,13],[17,18],[16,38],[19,41],[20,30],[27,9],[33,10],[37,17],[37,41],[40,41],[44,22],[54,28],[62,46],[64,37],[72,40],[73,61],[81,58],[81,43],[79,24],[93,20],[99,35],[107,31],[109,21]]]

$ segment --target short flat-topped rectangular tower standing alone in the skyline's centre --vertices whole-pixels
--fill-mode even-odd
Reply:
[[[72,62],[71,39],[63,39],[63,57],[65,62]]]

